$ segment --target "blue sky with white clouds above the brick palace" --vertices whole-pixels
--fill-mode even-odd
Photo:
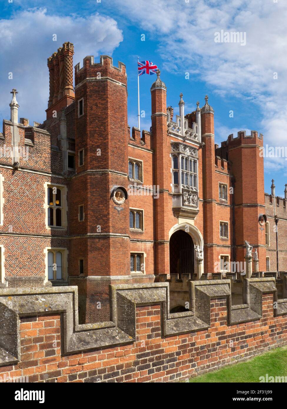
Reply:
[[[109,54],[127,66],[129,125],[137,126],[137,57],[157,64],[167,85],[167,104],[185,112],[209,103],[215,110],[215,142],[230,133],[258,130],[264,145],[285,146],[287,37],[282,30],[287,4],[281,0],[93,0],[1,3],[0,116],[9,119],[9,94],[18,90],[20,117],[42,122],[48,99],[47,57],[65,41],[75,45],[74,65],[86,55]],[[215,43],[215,32],[246,33],[246,45]],[[57,41],[52,35],[57,34]],[[145,41],[141,35],[145,34]],[[13,79],[8,79],[13,72]],[[185,73],[190,78],[185,79]],[[274,79],[277,72],[277,79]],[[150,86],[155,76],[140,77],[141,128],[151,125]],[[229,117],[229,111],[234,117]],[[177,113],[177,112],[176,112]],[[265,191],[275,179],[284,196],[285,158],[264,160]],[[252,177],[252,175],[251,175]]]

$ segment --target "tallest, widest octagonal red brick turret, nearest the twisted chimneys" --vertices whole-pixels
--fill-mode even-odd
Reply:
[[[108,320],[108,285],[130,277],[124,64],[114,67],[109,56],[94,63],[88,56],[82,68],[76,65],[75,117],[77,176],[70,194],[70,233],[75,238],[70,265],[72,274],[78,274],[79,259],[84,259],[84,277],[71,282],[83,283],[79,293],[83,299],[86,293],[86,322]],[[80,205],[84,205],[84,221],[78,219]],[[97,302],[101,303],[98,310]]]

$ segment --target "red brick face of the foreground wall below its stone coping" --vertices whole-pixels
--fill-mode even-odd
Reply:
[[[20,361],[0,376],[29,382],[171,382],[246,360],[287,344],[287,316],[274,317],[273,294],[262,294],[262,318],[227,325],[226,299],[212,299],[210,328],[162,337],[160,305],[136,308],[136,342],[61,355],[61,316],[20,319]]]

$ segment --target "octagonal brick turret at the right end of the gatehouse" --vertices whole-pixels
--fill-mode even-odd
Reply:
[[[247,240],[258,250],[260,271],[266,269],[265,232],[258,224],[258,216],[265,208],[262,146],[263,136],[256,131],[251,131],[251,135],[240,131],[236,138],[229,135],[227,140],[228,160],[235,177],[236,259],[244,261]]]

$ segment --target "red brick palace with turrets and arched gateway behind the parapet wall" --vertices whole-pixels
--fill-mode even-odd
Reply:
[[[12,91],[0,134],[0,285],[77,285],[81,322],[92,322],[108,320],[111,283],[222,278],[246,260],[245,241],[253,272],[287,270],[287,189],[285,199],[274,184],[264,193],[262,134],[215,145],[208,97],[185,112],[180,94],[174,116],[160,72],[150,130],[130,130],[125,65],[87,56],[74,86],[73,54],[64,43],[48,58],[43,124],[18,119]]]

